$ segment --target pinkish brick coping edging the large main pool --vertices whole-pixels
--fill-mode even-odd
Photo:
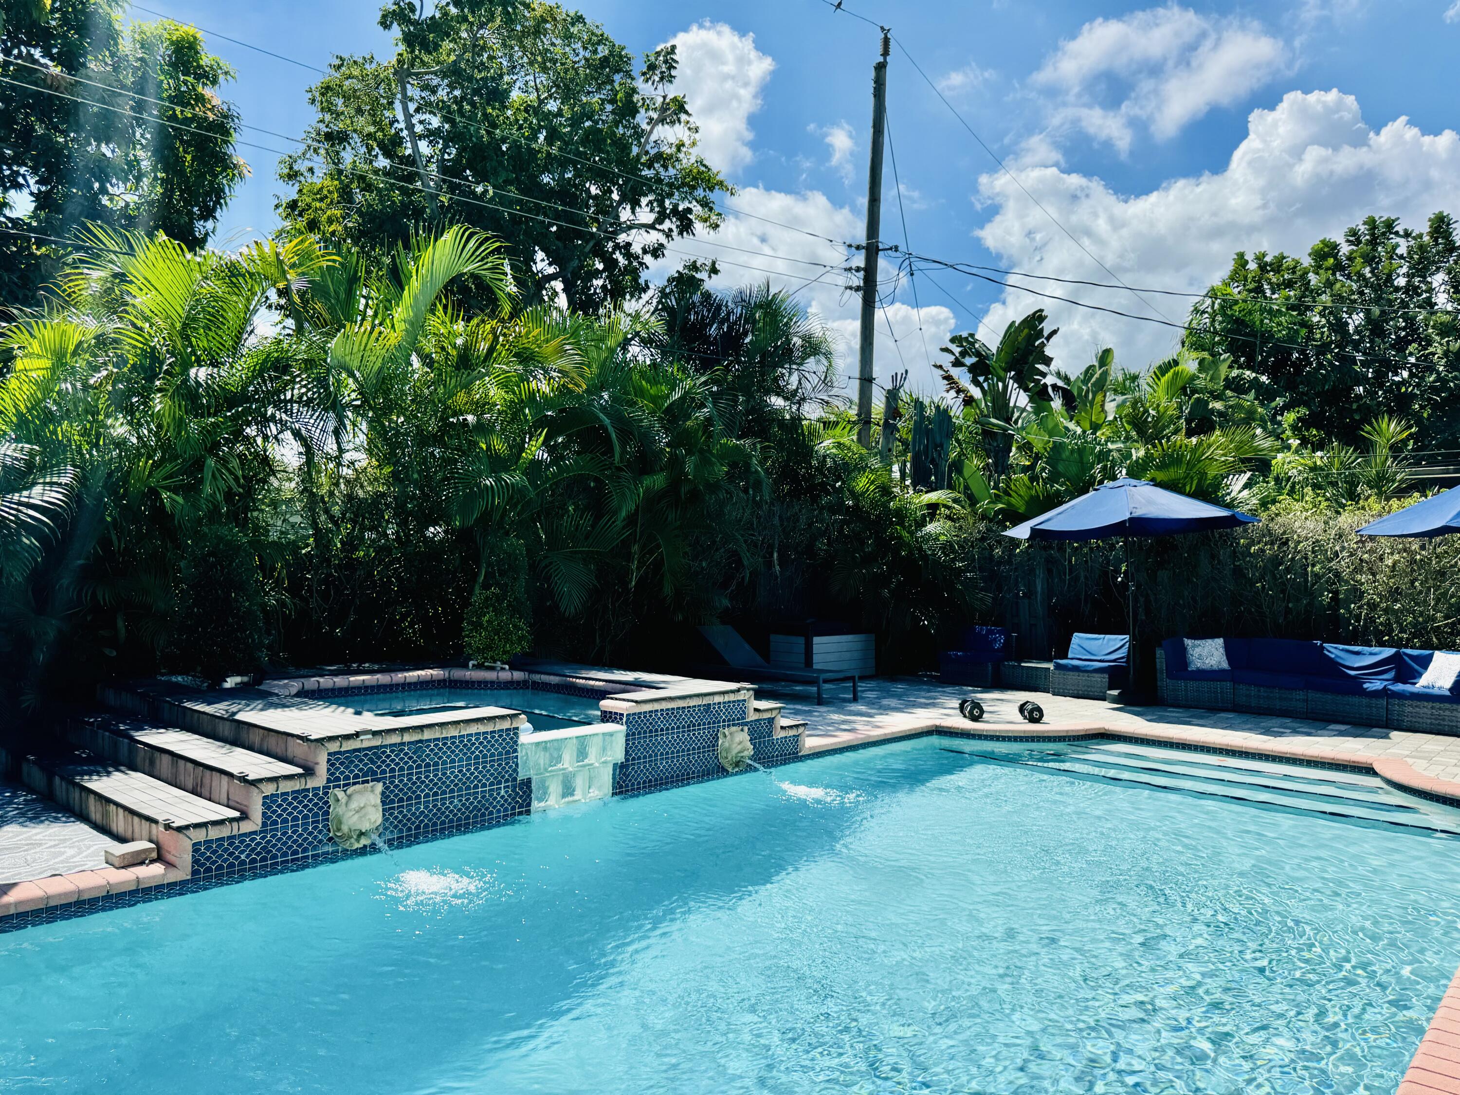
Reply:
[[[1440,780],[1418,771],[1409,761],[1388,756],[1367,756],[1340,749],[1295,745],[1270,739],[1244,740],[1235,745],[1221,731],[1200,727],[1142,726],[1139,730],[1105,726],[1098,721],[1035,724],[971,723],[962,718],[910,720],[904,724],[870,730],[844,730],[804,739],[800,759],[864,749],[888,742],[948,733],[958,737],[986,740],[1040,742],[1086,740],[1108,737],[1115,740],[1169,745],[1204,752],[1275,758],[1299,764],[1371,771],[1386,784],[1431,802],[1460,806],[1460,783]],[[162,883],[182,882],[187,876],[164,863],[140,867],[102,867],[51,875],[31,882],[0,885],[0,917],[39,908],[67,905],[74,901],[123,894]],[[1421,1040],[1397,1095],[1460,1095],[1460,971],[1456,972],[1440,1002],[1429,1029]]]

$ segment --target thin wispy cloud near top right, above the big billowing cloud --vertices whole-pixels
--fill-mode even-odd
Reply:
[[[1095,19],[1034,74],[1054,95],[1057,127],[1130,149],[1136,127],[1169,140],[1215,107],[1228,107],[1288,64],[1282,41],[1245,19],[1167,6]]]

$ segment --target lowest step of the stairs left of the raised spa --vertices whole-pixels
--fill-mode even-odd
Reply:
[[[193,841],[257,828],[241,810],[85,750],[26,756],[20,778],[36,794],[54,799],[120,841],[152,841],[159,856],[174,864]]]

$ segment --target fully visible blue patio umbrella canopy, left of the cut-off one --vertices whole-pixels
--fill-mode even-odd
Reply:
[[[1019,540],[1104,540],[1113,536],[1204,533],[1256,521],[1256,517],[1235,510],[1162,491],[1145,479],[1115,479],[1016,524],[1004,536]]]

